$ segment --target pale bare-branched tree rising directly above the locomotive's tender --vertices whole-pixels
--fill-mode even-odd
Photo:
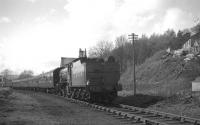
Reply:
[[[108,41],[99,41],[96,46],[89,49],[89,57],[106,58],[113,49],[113,43]]]

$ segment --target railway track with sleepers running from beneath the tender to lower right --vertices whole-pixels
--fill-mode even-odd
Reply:
[[[200,119],[179,116],[155,110],[138,108],[120,104],[120,107],[106,107],[98,104],[91,104],[77,99],[66,98],[68,101],[81,106],[87,106],[98,111],[107,112],[117,119],[122,119],[125,123],[135,125],[200,125]]]

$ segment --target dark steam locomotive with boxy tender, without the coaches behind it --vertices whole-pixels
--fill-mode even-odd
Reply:
[[[99,58],[78,58],[61,68],[60,92],[69,97],[91,101],[112,101],[117,96],[119,64],[113,57],[104,62]],[[66,89],[63,89],[66,88]],[[59,89],[58,89],[59,90]]]

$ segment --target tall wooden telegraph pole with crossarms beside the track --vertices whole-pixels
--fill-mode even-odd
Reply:
[[[130,40],[132,41],[133,45],[133,89],[134,89],[134,95],[136,95],[136,77],[135,77],[135,40],[137,39],[138,35],[135,33],[132,33],[131,35],[128,35]]]

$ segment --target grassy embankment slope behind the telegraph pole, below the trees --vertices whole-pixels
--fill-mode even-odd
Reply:
[[[159,51],[140,66],[136,66],[137,92],[159,96],[191,92],[191,81],[200,75],[200,59],[188,62],[185,57],[173,57]],[[122,74],[120,83],[124,90],[133,90],[133,68]]]

